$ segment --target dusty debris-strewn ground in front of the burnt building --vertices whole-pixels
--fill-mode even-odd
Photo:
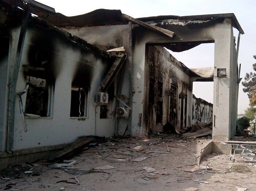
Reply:
[[[202,149],[210,141],[211,137],[184,139],[175,135],[106,139],[104,143],[90,147],[70,159],[77,161],[72,169],[56,169],[48,166],[53,163],[35,162],[31,166],[23,164],[0,171],[0,190],[236,191],[236,187],[256,190],[256,166],[253,160],[239,157],[233,163],[229,160],[229,155],[212,153],[202,159],[200,166],[196,165]],[[169,145],[168,148],[166,144]],[[146,158],[135,157],[143,155]],[[144,160],[131,161],[133,159]],[[212,168],[211,172],[200,170],[206,168],[206,163]],[[104,172],[88,174],[85,174],[88,171],[81,171],[106,165],[113,168],[103,168],[97,171]],[[186,172],[191,169],[197,171]],[[25,173],[26,171],[32,172]],[[76,176],[81,173],[83,175]],[[195,180],[208,183],[198,183]]]

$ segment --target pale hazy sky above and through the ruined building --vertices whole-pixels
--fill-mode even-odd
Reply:
[[[245,34],[241,35],[238,53],[238,64],[241,63],[243,78],[246,73],[253,71],[252,64],[256,63],[256,1],[255,0],[37,0],[48,5],[66,16],[82,15],[95,9],[120,9],[122,13],[133,18],[159,15],[205,15],[217,13],[234,13]],[[238,31],[233,28],[234,36]],[[189,68],[214,66],[214,43],[201,44],[184,52],[171,52],[178,61]],[[249,107],[249,98],[239,86],[238,114],[244,114]],[[213,82],[194,82],[193,94],[213,103]],[[227,100],[228,101],[228,100]]]

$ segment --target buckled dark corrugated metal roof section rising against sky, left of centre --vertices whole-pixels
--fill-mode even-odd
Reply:
[[[50,15],[44,19],[56,27],[105,26],[127,23],[127,21],[123,19],[122,12],[120,10],[109,9],[97,9],[77,16],[65,16],[61,13],[56,13],[55,15]]]

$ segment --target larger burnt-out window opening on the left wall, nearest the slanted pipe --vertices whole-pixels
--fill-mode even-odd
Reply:
[[[46,79],[27,76],[29,89],[26,97],[25,115],[50,117],[52,82]],[[33,114],[32,116],[29,114]]]

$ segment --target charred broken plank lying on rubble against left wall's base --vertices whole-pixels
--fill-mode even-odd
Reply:
[[[60,157],[66,157],[66,158],[71,157],[75,153],[81,151],[84,148],[84,145],[86,145],[91,141],[93,141],[92,137],[88,138],[86,136],[82,136],[78,140],[76,140],[74,143],[71,143],[63,150],[57,152],[55,156],[52,156],[49,159],[53,160]]]

